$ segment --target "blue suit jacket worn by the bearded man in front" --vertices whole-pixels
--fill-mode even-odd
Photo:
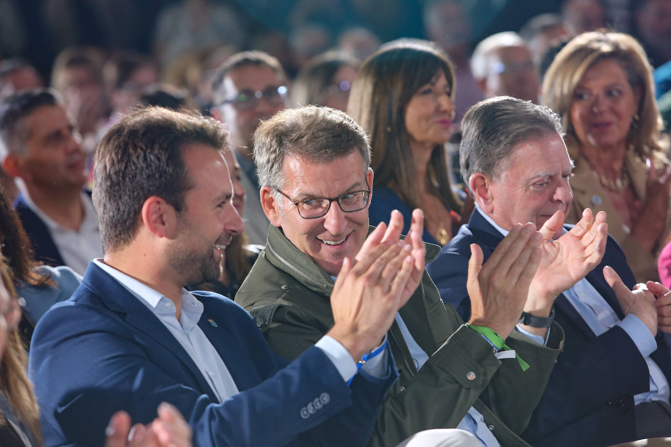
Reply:
[[[51,308],[32,338],[29,375],[46,446],[101,445],[115,411],[146,424],[162,401],[183,413],[195,446],[297,446],[301,433],[311,445],[366,443],[397,377],[391,355],[387,377],[358,374],[350,387],[315,346],[280,369],[286,362],[250,314],[217,294],[195,296],[204,306],[198,325],[240,393],[218,403],[164,324],[91,262],[72,298]]]

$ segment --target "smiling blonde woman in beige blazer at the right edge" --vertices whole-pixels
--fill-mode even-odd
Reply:
[[[637,281],[658,278],[657,255],[668,237],[671,170],[643,48],[616,32],[577,36],[548,68],[543,102],[562,117],[575,162],[566,222],[577,222],[584,208],[605,211],[608,231]]]

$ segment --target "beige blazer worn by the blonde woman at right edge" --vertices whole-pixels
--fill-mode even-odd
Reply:
[[[591,208],[595,214],[599,211],[605,211],[608,233],[622,247],[636,280],[639,282],[648,280],[659,281],[657,253],[649,253],[627,233],[617,212],[615,212],[615,208],[613,208],[613,204],[608,198],[607,192],[605,192],[599,179],[592,172],[587,159],[579,155],[575,159],[575,164],[576,166],[573,169],[574,176],[570,181],[573,190],[573,202],[569,208],[568,216],[566,216],[566,222],[578,222],[584,208]],[[629,171],[631,184],[636,196],[641,200],[645,200],[646,164],[635,155],[627,153],[625,156],[625,166]]]

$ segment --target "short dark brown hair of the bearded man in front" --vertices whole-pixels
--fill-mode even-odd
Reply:
[[[147,198],[160,196],[178,213],[185,209],[193,187],[183,159],[189,144],[223,149],[227,131],[212,118],[148,107],[105,133],[95,153],[93,204],[106,252],[132,241]]]

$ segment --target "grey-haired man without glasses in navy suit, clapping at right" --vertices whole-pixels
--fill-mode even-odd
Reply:
[[[470,245],[480,245],[487,259],[512,225],[535,223],[548,241],[541,249],[557,256],[550,268],[541,261],[538,271],[550,274],[537,273],[530,290],[563,284],[553,313],[566,342],[523,438],[533,445],[605,446],[669,436],[671,358],[652,294],[630,291],[633,274],[610,237],[592,271],[580,269],[580,257],[562,259],[586,222],[595,220],[605,231],[605,216],[585,210],[578,225],[562,226],[572,198],[572,162],[560,132],[552,111],[509,97],[482,101],[466,113],[461,168],[477,206],[427,270],[442,299],[468,318]],[[523,314],[520,322],[552,321],[550,309],[536,315],[546,318]]]

